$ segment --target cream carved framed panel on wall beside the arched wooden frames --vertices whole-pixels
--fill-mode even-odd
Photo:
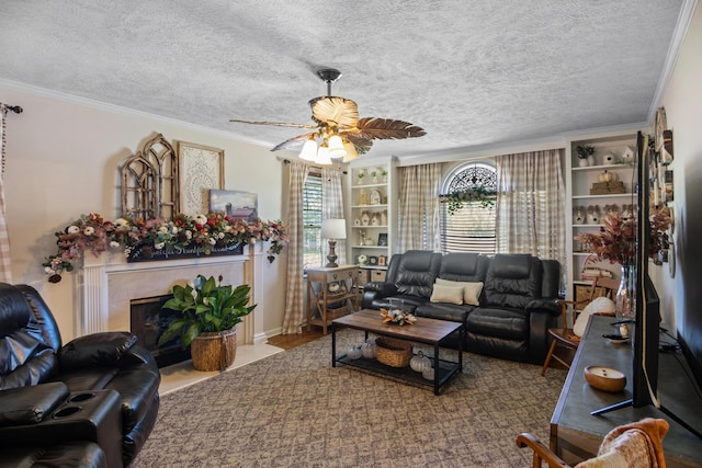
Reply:
[[[224,186],[224,150],[178,141],[180,208],[189,216],[207,213],[207,191]]]

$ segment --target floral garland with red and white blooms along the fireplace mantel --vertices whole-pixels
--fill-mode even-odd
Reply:
[[[118,218],[114,222],[101,215],[91,213],[68,225],[63,231],[55,232],[58,251],[42,263],[50,283],[61,281],[63,272],[71,272],[73,262],[86,252],[100,256],[109,249],[124,249],[129,258],[140,249],[144,253],[152,251],[182,251],[196,249],[208,255],[217,248],[248,244],[257,240],[271,241],[267,253],[273,262],[283,247],[290,241],[282,221],[247,221],[230,218],[224,213],[186,216],[176,215],[173,219],[152,218],[134,220]]]

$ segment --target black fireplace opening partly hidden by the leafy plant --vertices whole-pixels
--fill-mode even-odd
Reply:
[[[180,338],[176,338],[162,346],[158,345],[158,339],[179,315],[174,310],[162,308],[171,297],[173,295],[167,294],[129,300],[132,333],[139,339],[139,345],[151,353],[159,367],[190,359],[190,347],[182,350]]]

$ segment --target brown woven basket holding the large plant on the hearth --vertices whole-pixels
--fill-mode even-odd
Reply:
[[[190,345],[195,370],[226,370],[237,354],[237,328],[200,333]]]

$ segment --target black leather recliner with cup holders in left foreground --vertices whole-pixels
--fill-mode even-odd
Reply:
[[[159,384],[135,335],[63,345],[37,290],[0,283],[0,466],[129,465],[156,422]]]

